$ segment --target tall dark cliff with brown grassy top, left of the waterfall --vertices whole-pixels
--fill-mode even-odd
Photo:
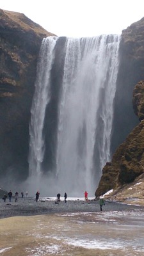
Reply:
[[[42,38],[22,13],[0,10],[0,177],[28,175],[29,117]]]

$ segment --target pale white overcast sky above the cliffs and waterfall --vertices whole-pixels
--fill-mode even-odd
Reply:
[[[58,36],[121,34],[144,17],[144,0],[0,0]]]

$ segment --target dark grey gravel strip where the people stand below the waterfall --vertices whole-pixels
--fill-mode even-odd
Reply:
[[[104,212],[107,211],[144,211],[144,207],[136,205],[118,204],[116,202],[106,201],[102,207]],[[99,212],[98,201],[84,202],[82,200],[63,200],[56,204],[54,200],[39,200],[35,202],[35,198],[19,198],[18,202],[12,199],[12,202],[3,202],[0,200],[0,218],[8,218],[12,216],[35,216],[42,214],[54,214],[61,212]]]

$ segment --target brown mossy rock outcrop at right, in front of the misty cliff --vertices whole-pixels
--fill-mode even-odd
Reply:
[[[132,101],[141,122],[117,148],[112,161],[104,166],[95,196],[111,189],[124,188],[125,184],[134,180],[138,182],[138,177],[144,178],[144,81],[136,84]]]

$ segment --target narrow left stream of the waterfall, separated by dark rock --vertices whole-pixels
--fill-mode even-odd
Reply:
[[[35,94],[31,107],[31,123],[29,124],[29,172],[40,175],[41,163],[44,159],[44,118],[45,108],[49,103],[51,93],[51,68],[54,60],[56,37],[44,38],[40,48],[40,58],[37,67]]]

